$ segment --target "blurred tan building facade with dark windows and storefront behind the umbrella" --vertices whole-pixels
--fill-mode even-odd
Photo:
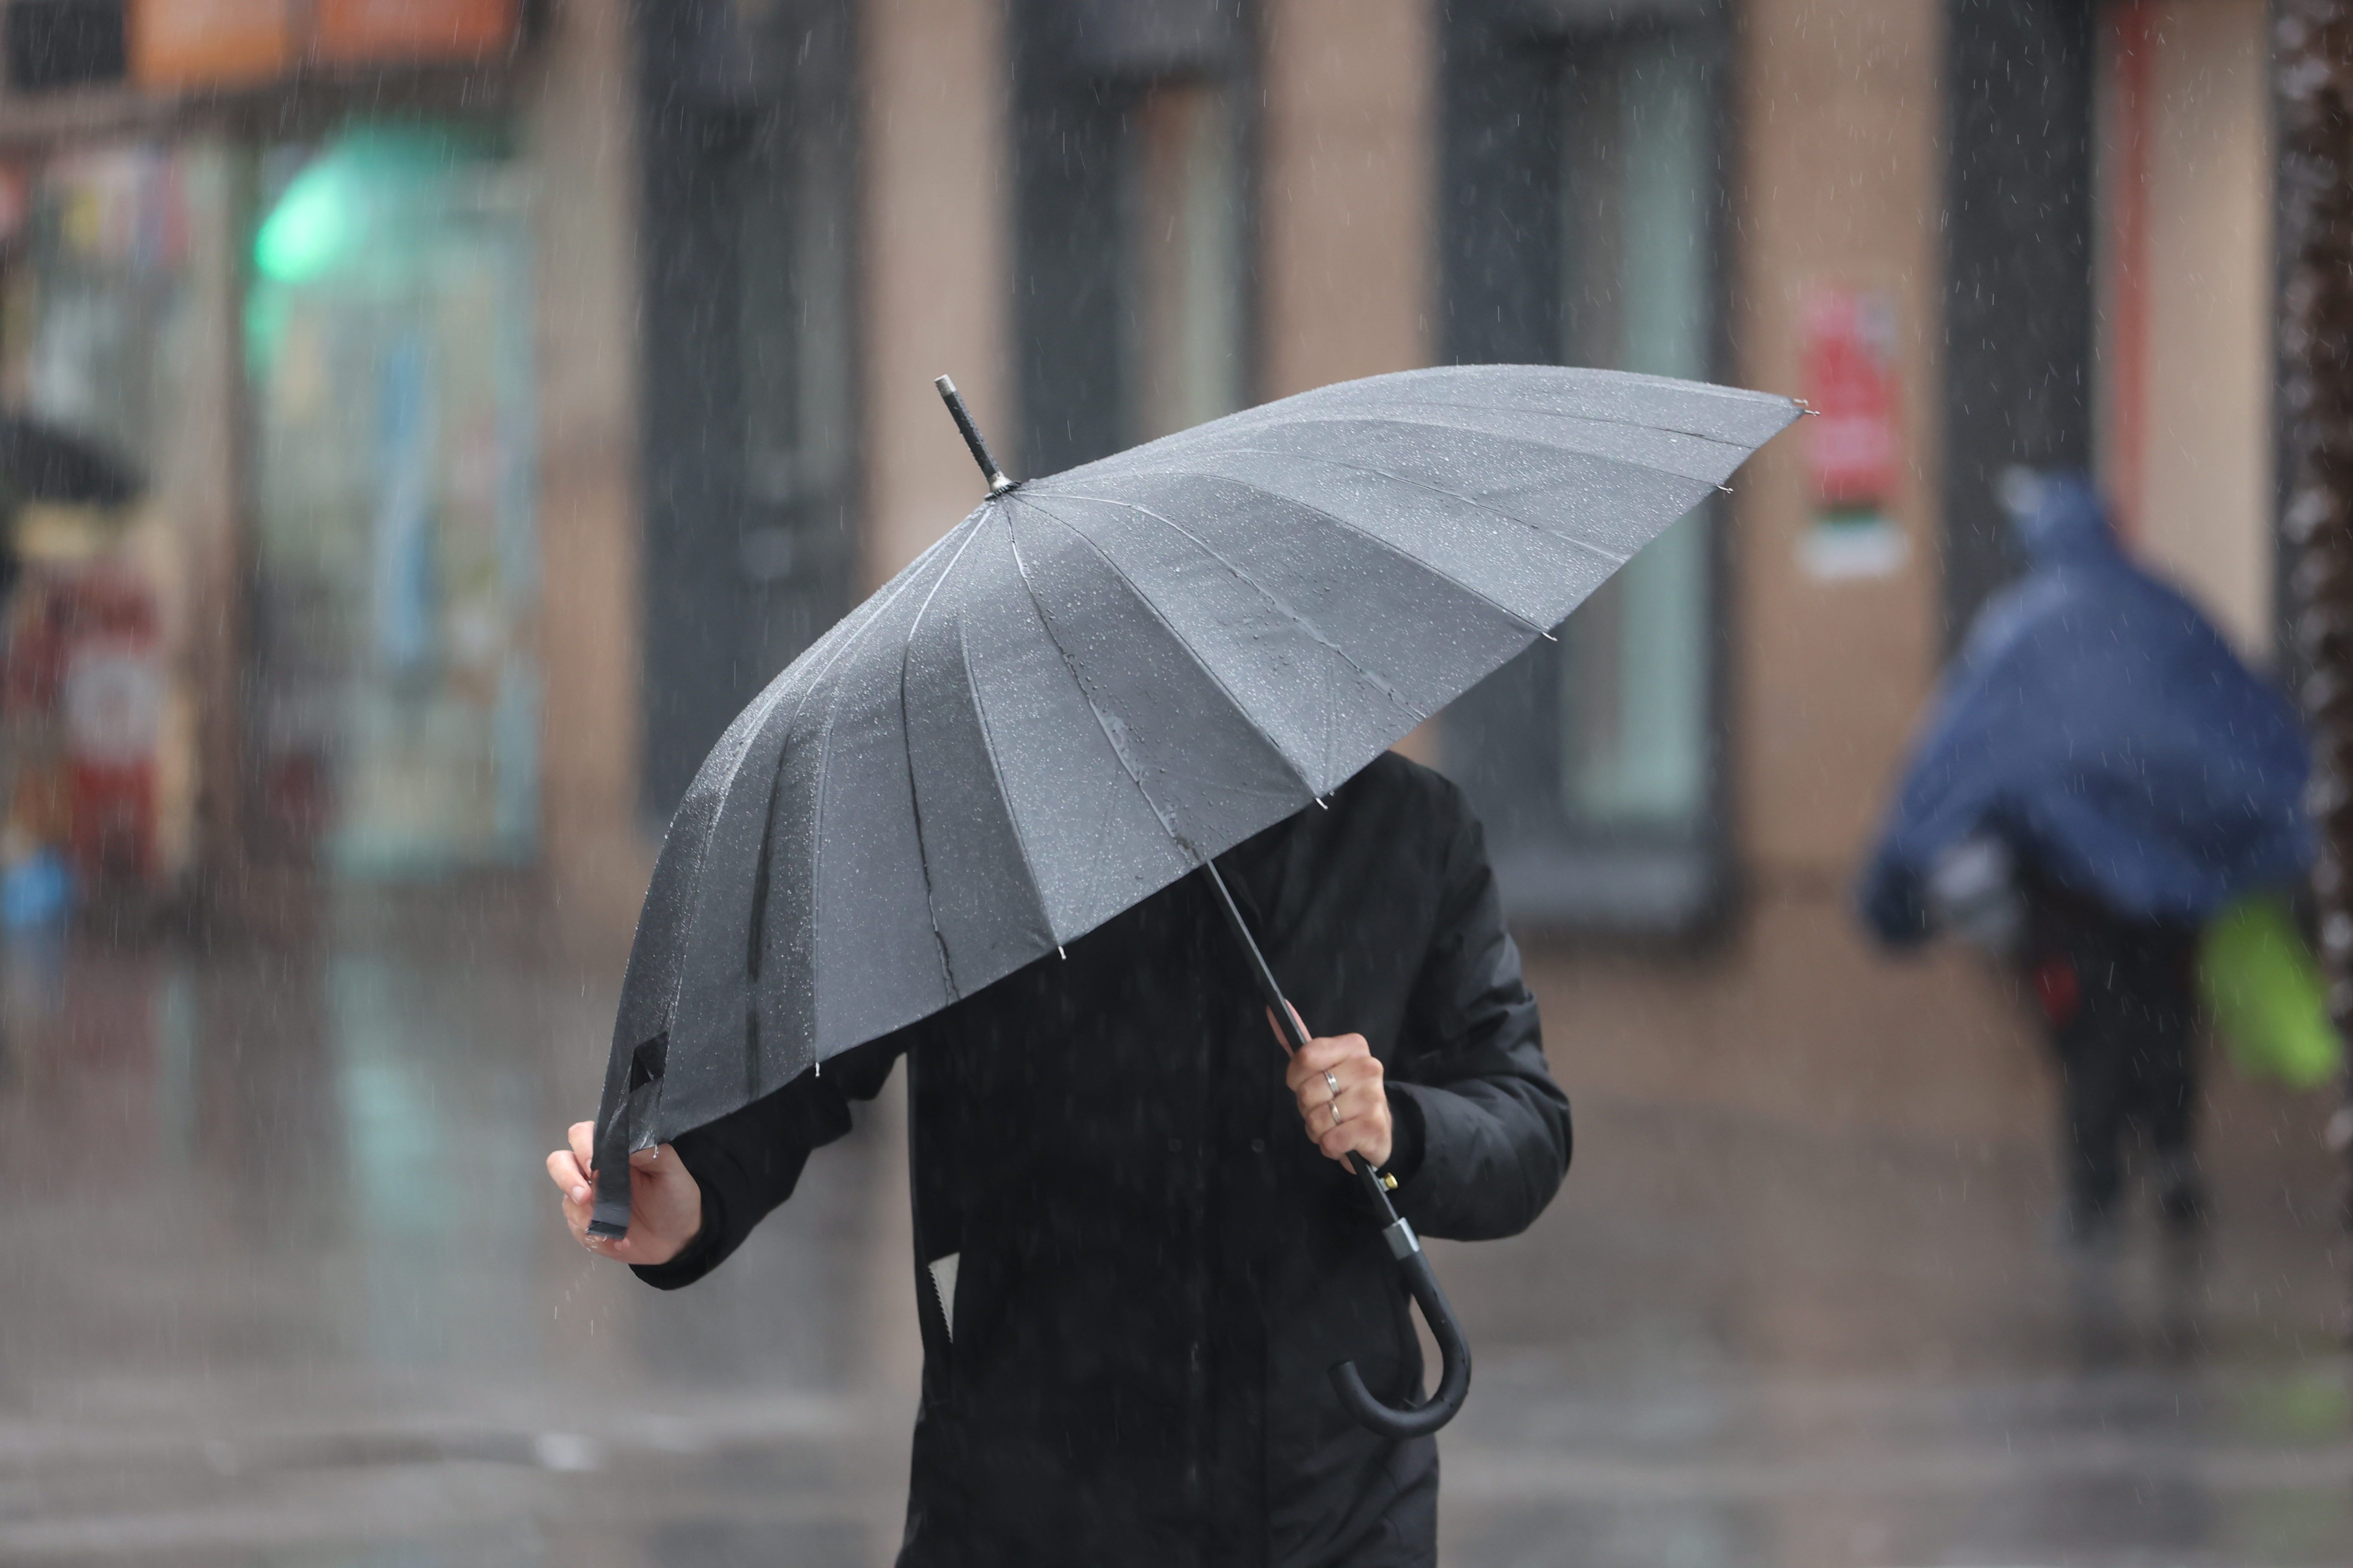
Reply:
[[[1706,376],[1821,418],[1407,748],[1588,1091],[2017,1131],[2005,987],[1849,912],[2005,475],[2097,468],[2275,656],[2261,0],[7,14],[0,397],[153,477],[80,550],[158,585],[214,896],[626,936],[725,719],[979,498],[936,374],[1014,473],[1419,364]]]

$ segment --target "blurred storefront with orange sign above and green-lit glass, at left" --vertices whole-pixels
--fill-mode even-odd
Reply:
[[[631,477],[626,381],[574,374],[553,428],[541,386],[633,329],[541,287],[544,228],[631,176],[593,136],[546,153],[626,134],[621,7],[527,9],[7,7],[0,404],[139,480],[14,505],[9,865],[153,905],[541,860],[546,437]]]

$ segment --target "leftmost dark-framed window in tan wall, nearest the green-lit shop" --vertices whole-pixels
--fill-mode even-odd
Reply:
[[[645,804],[849,607],[847,0],[638,7]],[[953,259],[944,259],[953,266]]]

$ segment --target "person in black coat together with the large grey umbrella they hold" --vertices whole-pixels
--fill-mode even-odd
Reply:
[[[1525,1229],[1569,1107],[1478,823],[1388,748],[1795,407],[1407,371],[1016,484],[941,393],[988,498],[706,759],[565,1218],[689,1284],[904,1063],[906,1568],[1433,1563],[1471,1356],[1419,1232]]]

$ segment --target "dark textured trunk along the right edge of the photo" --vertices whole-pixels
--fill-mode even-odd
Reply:
[[[2280,404],[2297,651],[2308,670],[2313,896],[2329,1016],[2353,1039],[2353,2],[2278,0]],[[2332,1133],[2353,1145],[2353,1088]],[[2346,1215],[2353,1220],[2353,1171]],[[2353,1328],[2353,1312],[2348,1312]]]

